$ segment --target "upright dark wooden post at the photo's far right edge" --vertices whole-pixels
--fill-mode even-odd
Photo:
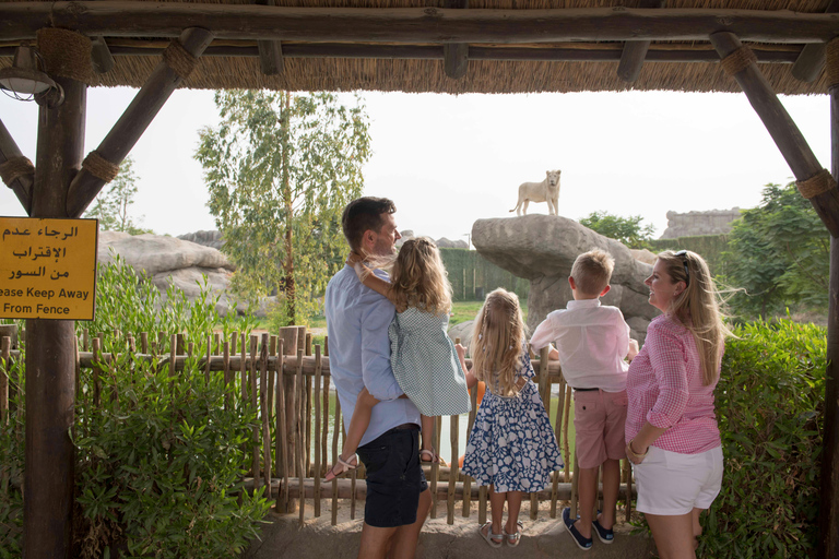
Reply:
[[[830,145],[834,178],[839,177],[839,86],[830,88]],[[830,239],[827,311],[825,436],[819,491],[817,557],[839,557],[839,241]]]

